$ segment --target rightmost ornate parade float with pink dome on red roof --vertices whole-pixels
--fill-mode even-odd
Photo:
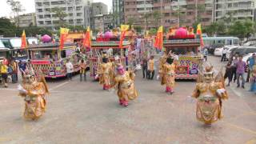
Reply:
[[[178,55],[178,66],[176,69],[176,79],[196,79],[198,72],[202,69],[202,54],[200,53],[200,38],[194,34],[193,28],[170,28],[163,42],[166,54]]]

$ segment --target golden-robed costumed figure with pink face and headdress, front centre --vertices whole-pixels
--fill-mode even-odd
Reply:
[[[138,91],[134,86],[135,74],[134,71],[126,71],[121,64],[118,65],[117,72],[114,78],[114,86],[118,90],[119,104],[128,106],[129,100],[138,97]]]

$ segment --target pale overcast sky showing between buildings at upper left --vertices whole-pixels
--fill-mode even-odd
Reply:
[[[7,0],[0,0],[0,17],[10,17],[12,15],[10,6],[6,4]],[[24,13],[34,12],[34,0],[19,0],[22,2],[23,8],[26,10]],[[93,0],[94,2],[103,2],[108,6],[110,10],[112,6],[112,0]]]

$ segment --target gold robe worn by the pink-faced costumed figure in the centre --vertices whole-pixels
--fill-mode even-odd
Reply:
[[[121,100],[133,100],[138,97],[138,91],[134,86],[135,74],[126,71],[125,74],[118,74],[114,78],[115,86],[118,89],[118,98]]]

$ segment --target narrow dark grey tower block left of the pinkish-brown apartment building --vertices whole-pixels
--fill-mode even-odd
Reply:
[[[112,0],[112,13],[114,15],[114,26],[120,26],[125,22],[125,11],[124,11],[125,0]]]

